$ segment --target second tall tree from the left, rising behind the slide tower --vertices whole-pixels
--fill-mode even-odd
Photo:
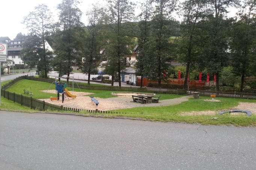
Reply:
[[[59,71],[59,77],[67,75],[67,82],[78,56],[76,34],[83,26],[81,23],[82,12],[77,7],[78,3],[78,0],[62,0],[62,3],[57,6],[60,13],[54,33],[54,49],[57,56],[53,65]]]

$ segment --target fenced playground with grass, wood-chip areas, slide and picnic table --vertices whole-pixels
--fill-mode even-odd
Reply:
[[[84,110],[97,109],[101,111],[115,111],[120,113],[118,114],[119,116],[139,117],[164,122],[231,123],[234,125],[249,125],[252,122],[256,122],[255,99],[216,97],[214,101],[212,101],[210,96],[200,96],[199,99],[194,99],[193,95],[89,90],[79,88],[74,88],[73,90],[72,85],[70,85],[72,83],[69,83],[66,88],[64,86],[66,82],[59,82],[59,84],[62,83],[63,92],[60,91],[59,100],[56,100],[58,91],[55,87],[55,81],[54,83],[48,83],[23,79],[17,81],[6,90],[14,92],[17,95],[22,94],[24,96],[30,96],[30,94],[32,94],[31,97],[35,99],[63,107],[80,108]],[[26,89],[28,93],[24,94],[24,89]],[[63,102],[62,93],[64,94]],[[142,104],[133,101],[132,96],[134,95],[145,95],[147,97],[152,95],[152,98],[156,98],[157,96],[160,98],[158,103],[146,102]],[[94,101],[92,97],[95,99]],[[96,101],[98,101],[98,105],[96,105]],[[12,104],[14,104],[14,102],[12,102]],[[248,110],[251,111],[252,115],[246,116],[244,113],[218,114],[219,111],[228,109]],[[211,120],[212,117],[220,117],[220,119],[216,121]],[[254,123],[252,124],[254,125]]]

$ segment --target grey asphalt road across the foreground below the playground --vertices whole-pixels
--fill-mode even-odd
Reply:
[[[256,128],[0,111],[2,170],[255,170]]]

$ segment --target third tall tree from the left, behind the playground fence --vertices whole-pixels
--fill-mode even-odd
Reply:
[[[85,37],[81,39],[82,62],[79,68],[85,74],[88,74],[88,84],[90,84],[90,75],[95,73],[100,63],[101,54],[101,34],[99,24],[101,23],[103,9],[97,5],[87,12],[89,25],[83,33]],[[84,40],[84,41],[83,41]]]

